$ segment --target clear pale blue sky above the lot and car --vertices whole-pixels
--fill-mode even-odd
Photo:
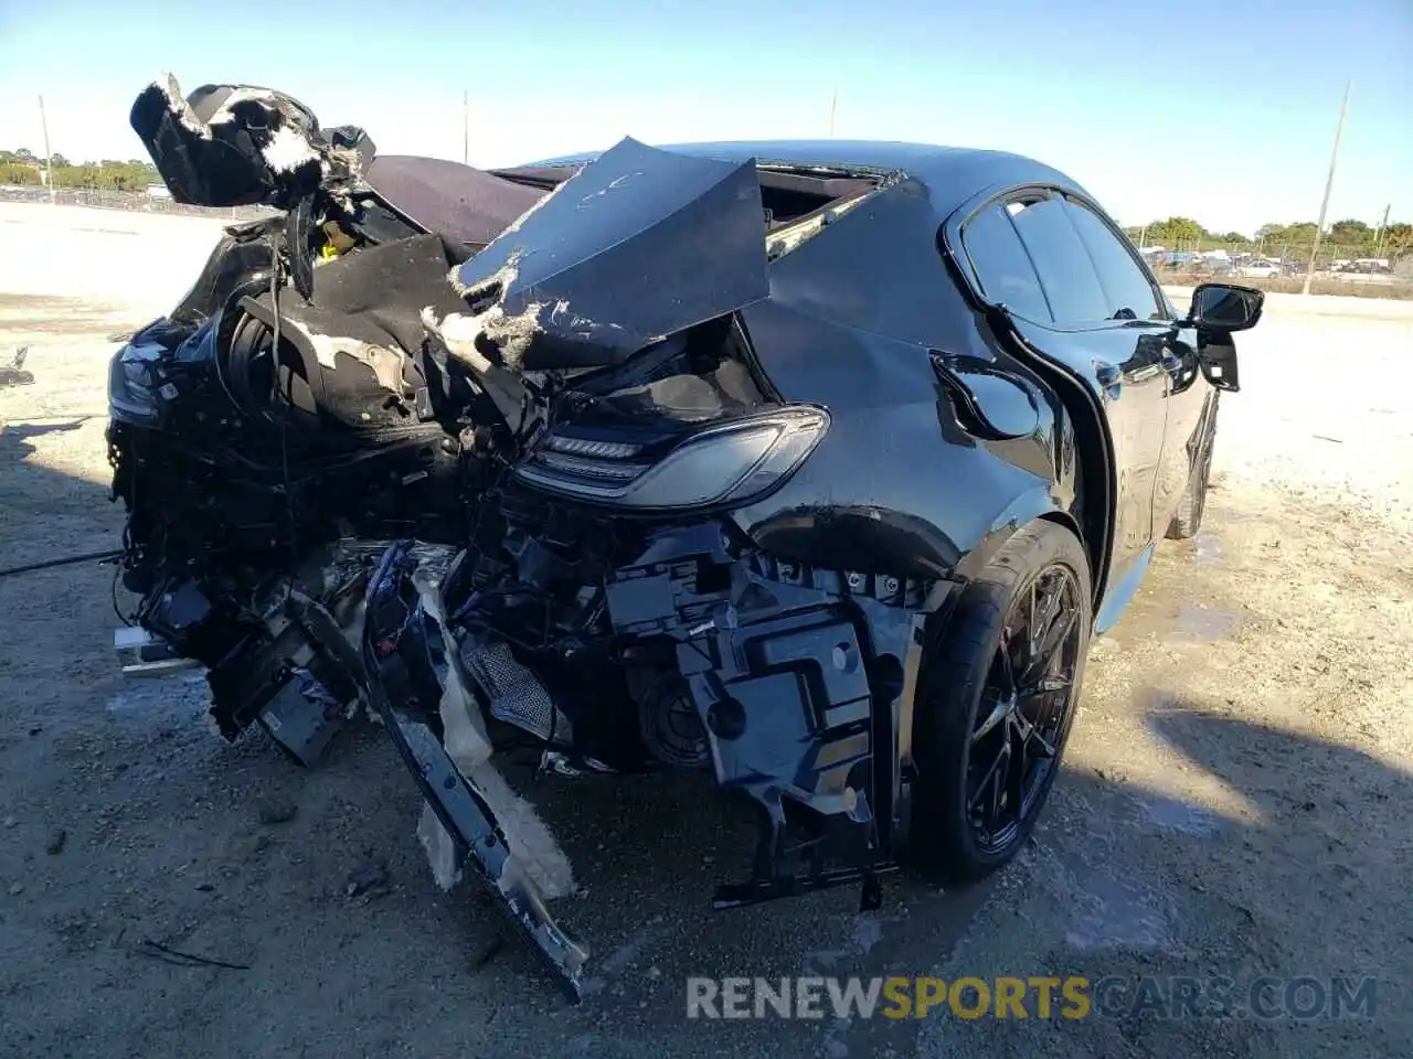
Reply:
[[[143,157],[167,71],[278,88],[387,154],[495,165],[649,143],[829,134],[1013,150],[1125,223],[1413,219],[1413,0],[0,0],[0,147]],[[264,18],[264,27],[260,20]],[[223,24],[233,28],[229,35]]]

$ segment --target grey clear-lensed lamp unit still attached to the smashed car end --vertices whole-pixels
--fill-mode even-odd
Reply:
[[[516,477],[642,510],[745,504],[790,477],[828,429],[822,408],[790,405],[692,433],[656,459],[649,446],[633,442],[551,431]]]

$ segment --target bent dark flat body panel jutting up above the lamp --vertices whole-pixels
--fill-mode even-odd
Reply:
[[[452,285],[472,311],[454,329],[504,367],[620,363],[769,295],[756,162],[625,138],[454,270]]]

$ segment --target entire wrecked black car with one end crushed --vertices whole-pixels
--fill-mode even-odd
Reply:
[[[1091,633],[1197,532],[1260,292],[1180,315],[1009,154],[625,140],[482,172],[235,86],[154,86],[133,124],[175,198],[276,210],[113,360],[123,635],[206,665],[229,737],[312,761],[369,709],[438,880],[483,881],[575,995],[572,873],[509,741],[743,798],[719,907],[1016,853]]]

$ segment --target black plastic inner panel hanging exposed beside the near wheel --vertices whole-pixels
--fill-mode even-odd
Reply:
[[[755,873],[718,907],[849,881],[872,904],[907,829],[909,647],[945,586],[780,563],[712,524],[668,537],[610,575],[608,620],[673,644],[718,784],[760,815]]]

